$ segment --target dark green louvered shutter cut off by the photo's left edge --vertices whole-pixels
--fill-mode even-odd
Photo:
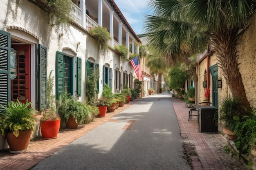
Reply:
[[[11,102],[11,34],[0,30],[0,105]]]

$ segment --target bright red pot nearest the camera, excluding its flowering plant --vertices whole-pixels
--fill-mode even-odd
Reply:
[[[60,130],[61,119],[53,121],[40,121],[42,139],[55,139],[57,138],[58,131]]]

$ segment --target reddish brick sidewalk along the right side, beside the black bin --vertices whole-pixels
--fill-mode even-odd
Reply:
[[[224,151],[226,139],[220,133],[200,133],[196,116],[189,119],[190,108],[182,99],[171,97],[180,125],[184,148],[190,157],[194,170],[248,170],[238,158],[232,158]]]

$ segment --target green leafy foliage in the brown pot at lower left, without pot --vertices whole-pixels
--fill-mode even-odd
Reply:
[[[1,135],[6,135],[7,132],[13,132],[16,137],[19,136],[22,130],[34,131],[34,121],[37,121],[33,117],[32,111],[34,107],[30,105],[32,102],[26,101],[22,104],[19,100],[17,102],[9,102],[8,107],[2,106],[3,111],[0,112],[0,130]]]

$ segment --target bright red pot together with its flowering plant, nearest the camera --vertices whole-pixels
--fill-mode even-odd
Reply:
[[[43,110],[42,112],[43,117],[40,119],[42,139],[57,138],[61,126],[61,118],[55,111],[51,111],[50,109]]]

